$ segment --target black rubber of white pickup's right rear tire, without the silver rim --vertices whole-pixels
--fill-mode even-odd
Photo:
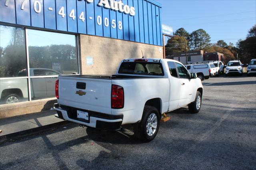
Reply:
[[[152,134],[152,136],[150,136],[147,132],[147,121],[148,121],[148,117],[150,117],[151,114],[153,113],[156,115],[157,125],[154,133]],[[156,134],[159,128],[159,123],[160,123],[160,115],[158,110],[152,106],[145,106],[140,123],[134,124],[134,127],[133,127],[134,136],[136,136],[138,139],[144,142],[150,142],[156,137]]]

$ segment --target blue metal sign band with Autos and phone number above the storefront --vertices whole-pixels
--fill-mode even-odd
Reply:
[[[161,45],[161,7],[154,3],[151,0],[0,0],[0,22]],[[140,26],[142,23],[148,27]],[[150,41],[151,37],[155,40]]]

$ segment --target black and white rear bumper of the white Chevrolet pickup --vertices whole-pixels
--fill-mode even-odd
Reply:
[[[54,105],[54,110],[57,111],[58,118],[60,119],[102,130],[118,130],[121,127],[123,121],[123,115],[108,115],[94,111],[77,109],[74,107],[63,105],[59,106],[58,103]],[[77,110],[87,112],[89,120],[77,118]]]

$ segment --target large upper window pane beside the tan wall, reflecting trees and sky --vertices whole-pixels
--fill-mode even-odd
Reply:
[[[34,76],[78,72],[74,35],[28,30],[28,53],[30,69],[37,69]]]

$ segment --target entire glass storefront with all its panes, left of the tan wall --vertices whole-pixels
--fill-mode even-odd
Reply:
[[[1,104],[54,97],[58,75],[78,73],[75,35],[0,25],[0,37]]]

